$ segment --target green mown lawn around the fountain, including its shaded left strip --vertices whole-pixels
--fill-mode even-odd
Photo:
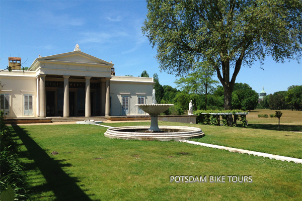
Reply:
[[[129,123],[126,125],[149,123]],[[160,122],[160,125],[173,123]],[[110,124],[116,126],[117,124]],[[179,125],[179,124],[178,124]],[[193,125],[190,125],[193,126]],[[199,125],[198,125],[199,126]],[[33,200],[301,200],[302,165],[232,153],[175,141],[126,141],[104,137],[106,128],[93,125],[10,127],[21,144]],[[202,126],[200,142],[243,148],[259,140],[257,129]],[[263,130],[261,130],[262,132]],[[255,137],[247,135],[252,132]],[[254,133],[253,133],[254,132]],[[273,138],[272,131],[262,134]],[[223,139],[233,136],[232,140]],[[234,135],[243,134],[236,141]],[[274,132],[275,133],[275,132]],[[300,141],[280,132],[274,143]],[[277,134],[278,135],[278,134]],[[245,140],[249,137],[250,139]],[[264,138],[264,137],[263,137]],[[214,140],[214,142],[212,141]],[[212,141],[212,142],[211,142]],[[220,143],[220,142],[219,142]],[[218,143],[218,144],[219,144]],[[258,149],[290,154],[286,149]],[[282,145],[280,145],[282,147]],[[286,145],[287,146],[287,145]],[[290,147],[288,147],[290,148]],[[275,150],[277,149],[277,150]],[[51,155],[57,151],[58,155]],[[292,151],[301,152],[301,146]],[[296,153],[295,153],[296,152]],[[280,154],[281,155],[281,154]],[[170,183],[171,175],[248,175],[252,183]]]

